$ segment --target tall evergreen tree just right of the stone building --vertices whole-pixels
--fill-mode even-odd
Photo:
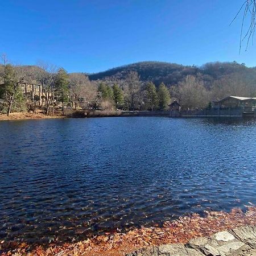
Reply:
[[[64,68],[57,71],[55,86],[62,102],[62,114],[64,115],[64,102],[68,102],[68,73]]]

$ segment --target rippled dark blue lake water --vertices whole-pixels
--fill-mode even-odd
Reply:
[[[48,242],[256,203],[256,122],[0,122],[0,238]]]

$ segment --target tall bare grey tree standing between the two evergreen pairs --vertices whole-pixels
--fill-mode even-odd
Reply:
[[[123,90],[125,92],[125,101],[129,105],[129,110],[134,111],[135,103],[140,89],[139,76],[137,72],[130,71],[124,81]]]

